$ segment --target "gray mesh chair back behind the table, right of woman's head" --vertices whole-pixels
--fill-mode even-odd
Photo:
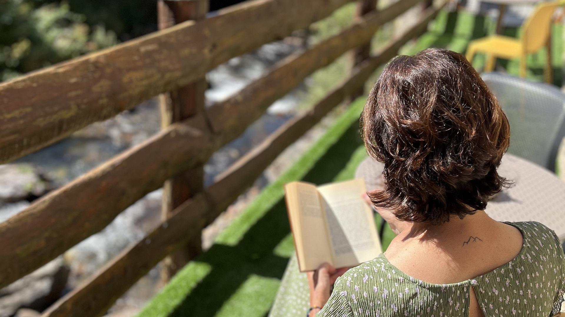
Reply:
[[[565,94],[557,87],[502,73],[482,74],[510,122],[509,153],[555,172],[565,137]]]

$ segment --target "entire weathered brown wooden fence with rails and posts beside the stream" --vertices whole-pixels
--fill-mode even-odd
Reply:
[[[161,98],[162,131],[0,223],[0,287],[101,231],[166,182],[162,224],[43,316],[102,315],[169,254],[183,250],[179,256],[184,258],[173,261],[177,266],[198,254],[202,229],[282,150],[336,105],[358,95],[367,78],[425,32],[445,4],[399,0],[376,10],[375,0],[359,0],[357,19],[349,27],[282,60],[231,98],[203,108],[203,77],[212,68],[307,28],[349,2],[353,0],[251,0],[206,19],[206,0],[164,1],[159,3],[159,32],[0,84],[1,162],[167,93]],[[420,19],[371,55],[368,47],[376,30],[414,6],[423,7]],[[312,72],[350,50],[355,50],[354,67],[327,96],[202,188],[202,166],[214,151],[241,135]]]

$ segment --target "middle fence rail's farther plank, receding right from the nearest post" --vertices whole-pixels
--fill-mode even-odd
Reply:
[[[420,1],[401,0],[382,11],[370,12],[336,36],[282,60],[271,72],[251,82],[234,97],[209,109],[207,113],[212,130],[223,136],[223,143],[230,142],[257,120],[269,105],[316,69],[331,64],[346,51],[364,45],[381,25],[394,20]]]

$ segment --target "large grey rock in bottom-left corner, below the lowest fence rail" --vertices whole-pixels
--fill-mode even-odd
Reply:
[[[63,257],[58,257],[0,289],[0,316],[12,316],[21,308],[45,310],[61,296],[68,275],[69,267]]]

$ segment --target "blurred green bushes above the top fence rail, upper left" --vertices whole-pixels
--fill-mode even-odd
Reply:
[[[0,1],[0,80],[157,28],[154,0]]]

